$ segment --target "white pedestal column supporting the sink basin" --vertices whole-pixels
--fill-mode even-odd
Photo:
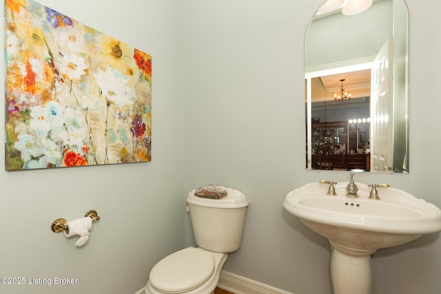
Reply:
[[[371,254],[331,242],[331,278],[334,294],[371,294]]]

